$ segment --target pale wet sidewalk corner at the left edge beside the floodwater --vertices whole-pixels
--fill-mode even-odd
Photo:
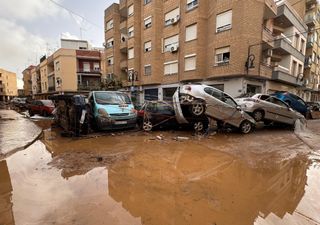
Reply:
[[[13,110],[0,109],[0,160],[30,145],[42,129]]]

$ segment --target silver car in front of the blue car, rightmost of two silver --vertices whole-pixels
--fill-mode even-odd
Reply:
[[[241,98],[236,101],[256,122],[279,122],[289,125],[294,125],[297,120],[305,122],[302,114],[270,95],[256,94],[251,98]]]

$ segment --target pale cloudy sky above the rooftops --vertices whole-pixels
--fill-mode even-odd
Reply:
[[[22,71],[58,49],[61,37],[82,36],[102,47],[104,9],[113,2],[118,0],[0,0],[0,67],[17,73],[22,88]]]

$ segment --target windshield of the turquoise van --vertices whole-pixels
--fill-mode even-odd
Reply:
[[[131,104],[129,96],[124,93],[96,92],[94,95],[96,102],[102,105]]]

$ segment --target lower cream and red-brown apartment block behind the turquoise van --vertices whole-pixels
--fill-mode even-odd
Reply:
[[[32,93],[47,98],[55,93],[81,93],[100,89],[103,71],[101,50],[88,49],[86,41],[62,40],[60,48],[42,57],[31,70]]]

